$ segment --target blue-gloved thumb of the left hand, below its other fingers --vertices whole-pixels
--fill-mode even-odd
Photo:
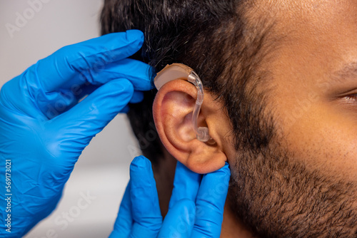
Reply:
[[[74,165],[91,138],[99,133],[131,100],[133,85],[126,79],[117,79],[99,87],[81,103],[46,123],[46,131],[61,137],[59,148],[66,148],[66,156]],[[72,153],[72,151],[74,153]],[[64,161],[64,166],[70,166]]]

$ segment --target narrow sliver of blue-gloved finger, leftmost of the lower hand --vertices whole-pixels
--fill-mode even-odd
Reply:
[[[133,217],[131,215],[131,197],[130,197],[130,181],[126,186],[123,200],[119,207],[119,213],[114,223],[114,230],[109,238],[127,238],[131,232],[133,225]]]

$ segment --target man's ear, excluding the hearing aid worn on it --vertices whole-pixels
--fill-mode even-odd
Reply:
[[[156,94],[153,115],[156,129],[166,150],[193,172],[213,172],[223,167],[227,158],[223,152],[223,133],[220,106],[206,93],[203,99],[198,126],[208,127],[215,143],[196,139],[192,126],[192,113],[196,104],[197,89],[188,81],[177,79],[162,86]]]

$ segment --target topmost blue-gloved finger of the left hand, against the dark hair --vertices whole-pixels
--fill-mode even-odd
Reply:
[[[79,86],[85,83],[81,81],[83,75],[89,71],[100,71],[109,63],[121,61],[133,55],[139,51],[143,42],[144,35],[141,31],[130,30],[109,33],[65,46],[36,63],[38,77],[35,78],[39,78],[45,92],[51,92],[63,85],[77,84]]]

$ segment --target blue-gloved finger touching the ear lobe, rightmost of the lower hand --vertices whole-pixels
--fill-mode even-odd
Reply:
[[[203,175],[196,200],[192,237],[220,236],[230,176],[228,163],[215,172]]]

